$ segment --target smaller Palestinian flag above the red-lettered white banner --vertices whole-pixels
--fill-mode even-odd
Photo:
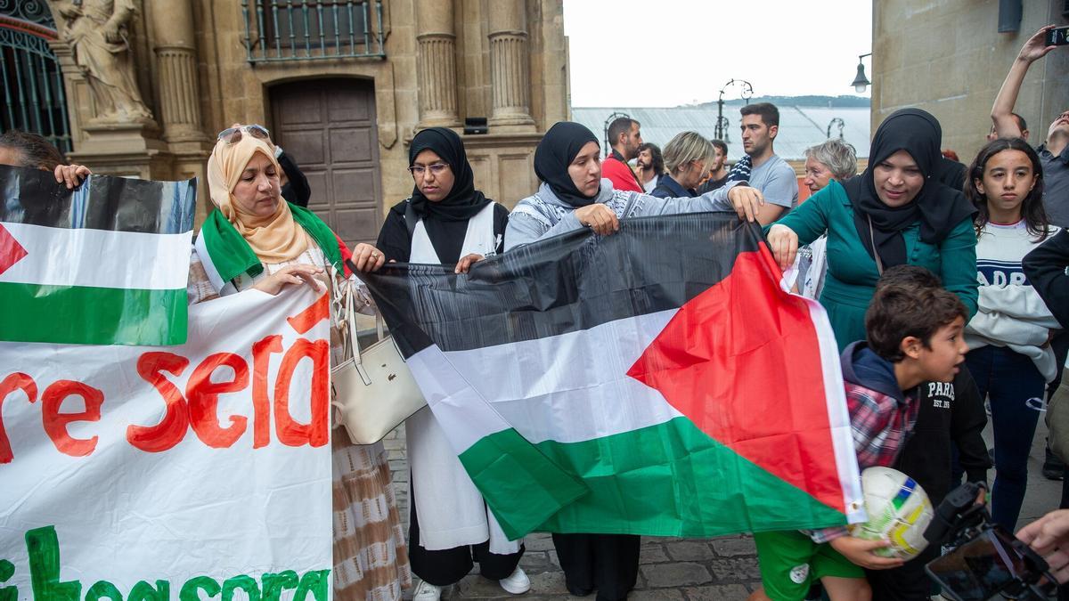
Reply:
[[[196,180],[0,166],[0,340],[182,344]]]

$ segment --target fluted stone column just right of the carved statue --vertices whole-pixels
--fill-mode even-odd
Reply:
[[[190,0],[152,0],[159,119],[168,142],[202,141],[197,41]]]

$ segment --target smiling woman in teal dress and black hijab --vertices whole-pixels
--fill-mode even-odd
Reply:
[[[769,228],[783,268],[799,244],[827,230],[827,279],[820,303],[839,350],[865,338],[865,310],[877,279],[893,265],[919,265],[976,312],[976,207],[939,176],[939,121],[920,109],[885,119],[872,138],[863,173],[831,182]]]

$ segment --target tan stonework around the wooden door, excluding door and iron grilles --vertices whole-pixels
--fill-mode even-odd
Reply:
[[[273,125],[273,86],[358,78],[374,86],[381,215],[412,191],[406,167],[415,133],[429,125],[461,132],[469,117],[490,120],[487,135],[465,136],[477,185],[486,196],[512,205],[537,187],[532,157],[541,135],[568,118],[561,0],[384,0],[385,59],[257,64],[248,60],[243,7],[269,6],[266,0],[135,0],[135,4],[131,56],[142,97],[153,113],[151,124],[137,130],[127,127],[122,137],[110,129],[93,130],[94,108],[84,78],[69,50],[61,42],[53,44],[64,65],[72,157],[100,173],[203,178],[217,132],[234,122]],[[421,46],[428,42],[433,44]],[[185,87],[168,81],[168,71],[160,64],[161,48],[174,45],[196,73],[196,93],[184,101],[196,105],[196,135],[183,130],[187,135],[175,136],[175,124],[165,122],[167,115],[160,111]],[[429,51],[437,55],[424,51],[432,46]],[[421,70],[424,63],[451,68]],[[445,112],[437,110],[438,101],[445,102]],[[199,217],[203,218],[211,209],[206,182],[201,191]]]

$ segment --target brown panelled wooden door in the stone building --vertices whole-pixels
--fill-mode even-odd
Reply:
[[[374,242],[383,214],[374,84],[303,79],[269,95],[272,136],[308,178],[308,207],[351,247]]]

